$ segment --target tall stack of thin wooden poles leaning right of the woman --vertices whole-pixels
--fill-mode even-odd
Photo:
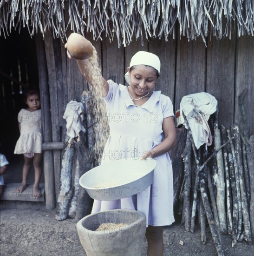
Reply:
[[[253,135],[248,137],[244,125],[243,133],[236,124],[230,129],[222,125],[219,128],[217,115],[218,110],[209,120],[213,145],[203,145],[198,150],[184,116],[188,132],[182,153],[184,179],[179,209],[187,232],[193,233],[196,225],[200,225],[202,243],[206,242],[208,222],[217,254],[221,256],[221,234],[232,236],[232,247],[237,241],[251,244],[254,239],[254,149]]]

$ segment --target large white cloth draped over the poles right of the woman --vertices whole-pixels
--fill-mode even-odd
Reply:
[[[208,93],[189,94],[182,97],[180,102],[181,123],[187,128],[182,115],[184,113],[197,149],[204,143],[208,146],[212,144],[212,135],[207,121],[210,115],[215,113],[216,107],[217,100]]]

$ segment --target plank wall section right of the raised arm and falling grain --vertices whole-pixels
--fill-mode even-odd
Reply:
[[[246,111],[248,113],[249,134],[253,134],[253,66],[254,37],[232,40],[208,40],[205,47],[201,38],[189,41],[186,38],[176,40],[150,40],[144,42],[133,40],[127,47],[117,47],[117,41],[90,41],[96,46],[101,56],[102,71],[105,79],[124,83],[124,74],[129,66],[131,56],[144,50],[157,54],[161,60],[161,76],[156,90],[169,96],[175,110],[184,95],[208,92],[215,96],[219,103],[219,123],[226,128],[236,122],[241,127],[241,115],[238,107],[238,95],[248,88]],[[100,51],[100,52],[99,52]]]

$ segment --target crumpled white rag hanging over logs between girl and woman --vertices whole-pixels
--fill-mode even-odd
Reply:
[[[84,111],[84,106],[81,102],[70,101],[66,108],[63,118],[66,120],[66,133],[71,138],[78,136],[80,131],[85,132],[85,128],[82,125],[84,116],[80,115]]]

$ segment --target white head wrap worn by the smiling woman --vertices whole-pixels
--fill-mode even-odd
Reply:
[[[161,62],[159,57],[155,54],[144,52],[144,51],[137,52],[137,54],[133,55],[133,57],[131,58],[129,67],[133,67],[135,65],[147,65],[147,66],[153,67],[158,71],[158,74],[160,74]],[[130,84],[129,72],[127,72],[124,75],[124,77],[127,83]]]

